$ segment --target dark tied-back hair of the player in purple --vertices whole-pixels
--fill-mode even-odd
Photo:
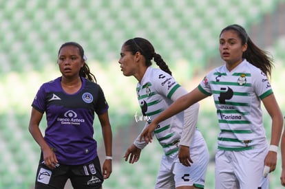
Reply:
[[[81,56],[81,58],[84,60],[84,65],[83,67],[81,67],[80,71],[79,71],[79,76],[83,77],[83,78],[86,78],[88,80],[91,80],[92,82],[97,82],[94,74],[92,74],[90,72],[90,69],[86,63],[86,58],[85,58],[85,55],[84,55],[84,49],[81,45],[79,45],[78,43],[76,42],[67,42],[67,43],[63,43],[63,45],[61,45],[61,47],[59,48],[59,52],[61,52],[61,49],[63,47],[66,47],[66,46],[69,46],[69,45],[72,45],[74,47],[78,47],[78,50],[79,50],[79,54]]]

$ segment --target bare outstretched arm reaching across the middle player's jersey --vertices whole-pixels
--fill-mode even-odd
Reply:
[[[178,98],[175,102],[171,104],[171,106],[166,109],[165,111],[162,111],[160,115],[158,115],[154,120],[152,120],[151,124],[147,126],[147,128],[142,131],[140,134],[140,140],[142,138],[145,140],[145,142],[151,142],[152,140],[152,135],[151,133],[154,132],[154,129],[156,129],[156,126],[162,122],[163,120],[166,120],[170,118],[173,115],[176,115],[180,111],[183,111],[184,109],[187,109],[190,107],[192,104],[206,98],[207,96],[202,93],[198,87],[193,89],[190,93],[187,93],[186,95]]]

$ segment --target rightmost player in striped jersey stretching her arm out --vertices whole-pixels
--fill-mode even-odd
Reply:
[[[229,25],[220,33],[220,56],[225,64],[213,69],[200,85],[171,104],[142,132],[151,133],[162,120],[213,95],[220,126],[215,154],[215,188],[268,189],[268,173],[276,168],[282,133],[282,113],[267,76],[271,58],[257,47],[240,25]],[[268,148],[261,102],[271,116]]]

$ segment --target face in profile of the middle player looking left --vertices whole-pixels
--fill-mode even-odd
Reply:
[[[138,71],[138,63],[136,62],[136,54],[131,54],[127,51],[125,45],[120,49],[120,71],[123,71],[124,76],[134,76]]]

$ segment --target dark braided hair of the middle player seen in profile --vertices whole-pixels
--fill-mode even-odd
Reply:
[[[131,38],[124,43],[126,49],[131,52],[131,54],[136,54],[136,52],[140,52],[142,56],[145,56],[145,65],[149,67],[151,65],[151,60],[154,58],[154,62],[156,65],[160,67],[163,71],[167,72],[168,74],[172,74],[168,65],[162,59],[160,54],[157,54],[154,50],[154,46],[151,45],[149,41],[145,38]]]

